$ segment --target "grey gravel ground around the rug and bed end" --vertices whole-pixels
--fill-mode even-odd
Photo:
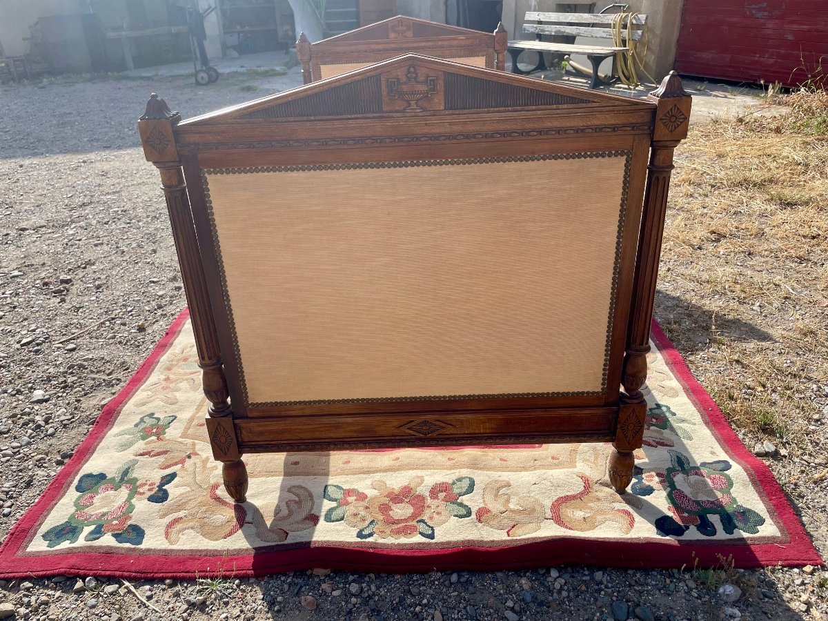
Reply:
[[[225,75],[205,88],[188,78],[0,87],[0,537],[185,304],[158,177],[135,128],[147,95],[157,91],[187,117],[300,82],[294,69]],[[658,312],[671,306],[662,297]],[[704,381],[697,345],[679,342]],[[780,478],[793,467],[774,465]],[[824,532],[825,520],[806,515],[806,526]],[[825,554],[824,536],[818,545]],[[0,580],[0,619],[821,619],[826,585],[819,568],[726,562],[682,573],[314,570],[142,580],[134,591],[122,580],[58,576]]]

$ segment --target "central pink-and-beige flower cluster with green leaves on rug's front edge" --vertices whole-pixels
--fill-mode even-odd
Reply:
[[[420,493],[421,476],[399,488],[384,481],[374,481],[376,493],[369,495],[355,488],[325,485],[325,500],[336,503],[325,511],[325,522],[344,522],[356,530],[358,539],[410,539],[423,537],[434,540],[437,528],[452,518],[471,517],[469,506],[460,497],[474,491],[474,479],[459,477],[451,482],[431,485],[428,493]]]

